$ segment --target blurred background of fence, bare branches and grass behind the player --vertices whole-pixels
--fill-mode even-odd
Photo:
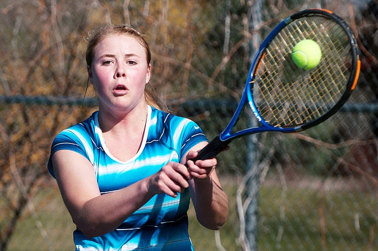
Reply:
[[[336,12],[358,34],[356,90],[321,126],[235,140],[218,156],[228,221],[206,230],[190,209],[189,233],[197,251],[378,250],[378,0],[0,0],[0,251],[74,250],[46,162],[54,136],[96,110],[86,91],[89,30],[111,22],[144,33],[148,88],[211,139],[265,35],[310,7]]]

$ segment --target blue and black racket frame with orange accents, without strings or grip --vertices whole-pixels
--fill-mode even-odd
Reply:
[[[257,72],[260,67],[261,60],[264,58],[266,48],[269,46],[269,44],[272,42],[272,40],[275,38],[275,36],[289,23],[292,21],[302,18],[305,16],[323,16],[329,19],[333,19],[336,21],[340,26],[344,29],[345,33],[348,34],[349,37],[349,42],[352,47],[352,53],[353,53],[353,62],[352,62],[352,72],[350,75],[350,79],[348,80],[348,85],[346,87],[346,92],[343,93],[342,97],[340,100],[335,104],[333,108],[331,108],[326,114],[323,116],[305,123],[303,125],[298,125],[295,127],[288,127],[284,128],[281,126],[273,126],[267,123],[263,117],[259,114],[259,111],[257,109],[257,106],[254,102],[253,99],[253,92],[252,92],[252,86],[254,84],[254,79],[257,75]],[[318,125],[322,123],[323,121],[327,120],[329,117],[331,117],[334,113],[336,113],[343,105],[344,103],[348,100],[349,96],[351,95],[352,91],[355,89],[357,80],[359,78],[359,73],[360,73],[360,56],[359,56],[359,49],[358,49],[358,43],[357,39],[349,27],[349,25],[338,15],[334,14],[332,11],[327,10],[327,9],[306,9],[299,11],[295,14],[292,14],[291,16],[283,19],[266,37],[266,39],[263,41],[261,44],[260,48],[258,49],[252,64],[251,68],[249,69],[248,73],[248,78],[246,81],[246,85],[243,91],[243,95],[241,97],[241,100],[239,102],[239,105],[232,116],[230,122],[226,126],[226,128],[220,133],[219,138],[221,141],[227,141],[230,142],[232,139],[243,136],[245,134],[252,134],[252,133],[258,133],[258,132],[265,132],[265,131],[280,131],[280,132],[297,132],[297,131],[302,131],[305,129],[308,129],[312,126]],[[234,125],[237,123],[239,115],[242,113],[245,103],[249,104],[249,107],[251,108],[253,114],[255,115],[257,121],[261,124],[258,127],[252,127],[252,128],[246,128],[243,130],[239,130],[237,132],[231,133],[232,128]]]

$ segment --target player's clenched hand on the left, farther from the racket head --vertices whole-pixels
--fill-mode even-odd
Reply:
[[[189,187],[189,178],[190,174],[185,165],[169,162],[156,174],[150,176],[149,189],[156,194],[166,193],[177,197],[177,193],[182,193]]]

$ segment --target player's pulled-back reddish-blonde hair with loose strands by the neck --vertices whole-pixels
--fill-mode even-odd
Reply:
[[[147,64],[149,65],[151,63],[152,57],[151,57],[150,47],[147,41],[144,39],[144,36],[139,31],[127,25],[105,24],[90,31],[88,33],[88,36],[85,38],[85,41],[88,44],[87,50],[86,50],[87,65],[89,66],[92,65],[92,60],[94,57],[96,45],[100,43],[104,38],[108,37],[109,35],[127,35],[127,36],[134,37],[143,46],[146,52]],[[88,81],[88,84],[89,83],[90,82]],[[162,106],[159,104],[161,102],[157,101],[155,90],[153,89],[150,83],[148,84],[151,90],[148,90],[147,88],[145,88],[144,90],[146,103],[150,106],[153,106],[161,110]],[[87,85],[87,89],[88,89],[88,85]]]

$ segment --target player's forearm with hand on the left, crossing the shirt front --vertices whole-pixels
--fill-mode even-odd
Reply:
[[[106,234],[118,227],[154,195],[165,193],[176,197],[177,193],[188,188],[188,179],[189,172],[185,165],[169,162],[152,176],[124,189],[88,200],[80,207],[77,217],[80,224],[76,224],[87,236]]]

